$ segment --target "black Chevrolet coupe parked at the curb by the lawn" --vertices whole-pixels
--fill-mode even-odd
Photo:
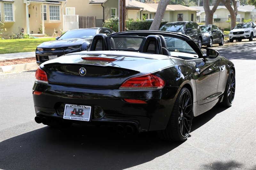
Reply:
[[[108,28],[85,28],[65,32],[56,41],[48,41],[40,44],[36,48],[36,63],[42,64],[44,61],[51,60],[61,55],[85,51],[91,44],[95,34],[103,33],[110,35],[115,33]]]

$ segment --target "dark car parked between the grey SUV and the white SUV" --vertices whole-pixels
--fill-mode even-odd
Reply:
[[[212,47],[212,44],[219,44],[223,46],[224,44],[224,33],[216,25],[200,25],[203,43],[202,45],[207,47]]]

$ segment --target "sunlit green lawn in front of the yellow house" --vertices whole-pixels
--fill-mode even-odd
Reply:
[[[52,40],[55,38],[0,39],[0,54],[36,51],[39,44]]]

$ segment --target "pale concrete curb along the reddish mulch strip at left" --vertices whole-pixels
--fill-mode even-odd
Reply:
[[[37,68],[38,68],[38,65],[36,64],[36,62],[33,62],[33,63],[26,63],[26,64],[0,66],[0,72],[6,73],[6,72],[12,72],[12,71],[23,71],[27,69],[37,69]]]

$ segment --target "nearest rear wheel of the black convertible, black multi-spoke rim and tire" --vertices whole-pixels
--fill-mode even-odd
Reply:
[[[193,102],[187,88],[180,90],[174,103],[169,122],[165,130],[158,131],[163,140],[185,141],[192,126]]]

